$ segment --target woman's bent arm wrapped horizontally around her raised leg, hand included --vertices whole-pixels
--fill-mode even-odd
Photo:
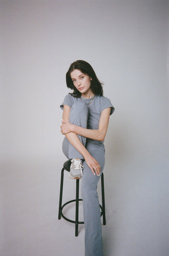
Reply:
[[[77,125],[72,125],[71,123],[69,123],[68,119],[64,119],[63,117],[61,126],[62,134],[68,134],[70,132],[73,132],[83,137],[100,140],[102,142],[105,139],[107,133],[110,110],[111,108],[106,108],[101,112],[99,128],[97,130],[86,129]]]

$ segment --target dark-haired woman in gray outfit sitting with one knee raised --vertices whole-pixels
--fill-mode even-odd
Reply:
[[[102,256],[102,233],[97,183],[105,165],[104,139],[109,116],[114,112],[110,100],[103,96],[95,71],[84,60],[74,61],[66,74],[61,133],[63,153],[71,159],[70,178],[82,178],[85,255]]]

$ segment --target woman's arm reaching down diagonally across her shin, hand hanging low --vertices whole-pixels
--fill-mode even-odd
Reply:
[[[68,105],[63,106],[63,116],[64,120],[69,121],[70,107]],[[61,126],[62,127],[62,126]],[[62,130],[62,128],[61,128]],[[80,142],[80,139],[75,133],[67,133],[65,137],[69,140],[69,142],[80,152],[80,154],[85,158],[87,165],[90,167],[92,173],[95,175],[100,174],[100,165],[97,160],[90,155],[85,146]],[[95,170],[95,171],[94,171]]]

